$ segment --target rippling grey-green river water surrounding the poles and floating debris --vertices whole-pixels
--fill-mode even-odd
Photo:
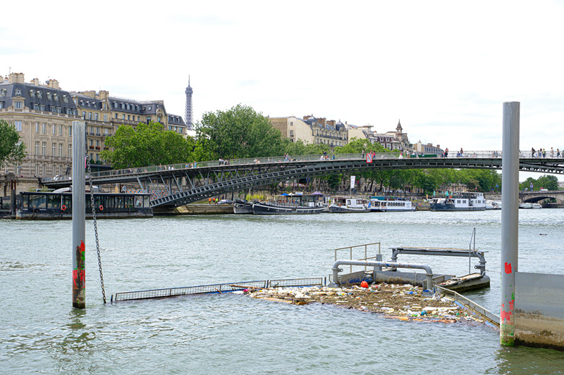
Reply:
[[[520,271],[564,274],[564,210],[519,213]],[[335,248],[380,242],[389,260],[393,246],[468,248],[473,228],[476,248],[489,252],[491,288],[465,295],[498,314],[500,211],[101,220],[99,240],[109,301],[118,291],[326,277]],[[403,322],[231,293],[104,305],[92,222],[87,309],[73,310],[71,231],[71,221],[0,221],[2,374],[564,372],[564,352],[502,348],[485,325]],[[435,273],[468,271],[460,258],[399,260]]]

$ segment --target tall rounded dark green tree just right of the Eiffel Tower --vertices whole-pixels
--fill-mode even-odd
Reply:
[[[207,160],[282,155],[281,133],[249,106],[204,113],[197,139]]]

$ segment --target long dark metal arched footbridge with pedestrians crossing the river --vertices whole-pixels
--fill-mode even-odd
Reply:
[[[564,174],[562,158],[532,158],[523,153],[519,169],[525,172]],[[367,170],[406,170],[430,168],[465,168],[501,170],[501,152],[467,151],[462,156],[412,155],[376,153],[367,155],[331,154],[299,155],[286,161],[282,157],[206,161],[174,165],[153,165],[93,172],[96,185],[135,183],[139,191],[153,193],[151,206],[178,206],[233,191],[277,184],[295,179],[320,177],[328,174],[364,172]],[[69,186],[71,179],[46,178],[42,183],[57,189]]]

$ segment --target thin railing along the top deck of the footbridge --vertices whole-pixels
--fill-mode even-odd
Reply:
[[[447,158],[501,158],[501,151],[449,151]],[[354,160],[361,159],[364,160],[367,157],[366,153],[327,153],[323,155],[296,155],[290,156],[289,158],[284,158],[283,156],[274,156],[266,158],[245,158],[245,159],[233,159],[233,160],[208,160],[202,162],[190,162],[190,163],[176,163],[168,165],[151,165],[148,167],[135,167],[135,168],[124,168],[121,170],[109,170],[102,172],[92,172],[92,177],[104,177],[104,176],[116,176],[123,174],[138,174],[145,172],[159,172],[164,170],[181,170],[181,169],[191,169],[197,167],[217,167],[222,165],[250,165],[259,163],[287,163],[292,161],[316,161],[316,160]],[[425,153],[375,153],[374,159],[398,159],[398,158],[445,158],[444,155],[436,154],[425,154]],[[534,154],[532,151],[520,151],[520,158],[563,158],[564,155],[560,154],[557,156],[556,151],[549,151],[544,156],[540,155],[538,152]],[[44,182],[53,182],[61,180],[70,180],[70,176],[64,177],[45,177]]]

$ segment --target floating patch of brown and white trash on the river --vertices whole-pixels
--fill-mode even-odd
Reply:
[[[331,304],[406,321],[483,323],[480,317],[462,309],[440,292],[423,291],[421,287],[410,284],[372,284],[367,288],[247,288],[235,293],[293,305]]]

